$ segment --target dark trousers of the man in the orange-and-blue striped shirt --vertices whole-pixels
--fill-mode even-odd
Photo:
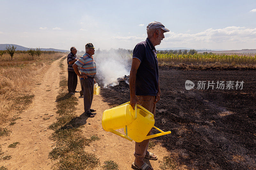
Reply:
[[[91,113],[90,108],[92,106],[92,99],[93,99],[94,79],[80,78],[80,80],[81,80],[81,86],[84,94],[84,112],[85,114]]]

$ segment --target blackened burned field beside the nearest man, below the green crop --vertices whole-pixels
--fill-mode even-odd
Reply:
[[[185,81],[195,83],[186,90]],[[198,81],[244,81],[243,89],[196,89]],[[102,88],[111,106],[130,100],[129,85]],[[161,100],[156,126],[170,135],[156,137],[178,163],[190,169],[255,169],[256,71],[159,69]],[[226,87],[225,87],[226,88]],[[153,133],[158,133],[156,129]]]

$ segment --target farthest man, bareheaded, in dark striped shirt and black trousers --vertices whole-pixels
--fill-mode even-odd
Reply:
[[[75,47],[70,48],[68,54],[68,92],[69,94],[75,94],[77,85],[77,75],[73,69],[73,64],[77,61],[76,58],[77,50]]]

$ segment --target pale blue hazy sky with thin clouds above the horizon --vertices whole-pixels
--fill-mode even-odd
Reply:
[[[170,30],[156,48],[256,48],[255,0],[1,0],[0,44],[133,49],[152,21]]]

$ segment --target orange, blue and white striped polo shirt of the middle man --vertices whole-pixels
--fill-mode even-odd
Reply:
[[[89,54],[85,53],[75,64],[80,67],[81,73],[84,73],[89,77],[94,77],[96,75],[96,63]]]

